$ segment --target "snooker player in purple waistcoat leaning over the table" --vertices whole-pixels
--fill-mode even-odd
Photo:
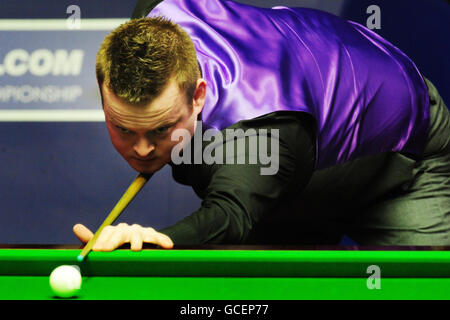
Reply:
[[[450,245],[449,111],[398,48],[305,8],[147,0],[133,18],[97,56],[111,141],[138,172],[169,164],[203,201],[162,230],[109,226],[93,250],[337,244],[344,234],[361,245]],[[194,133],[208,128],[272,133],[277,170],[174,161],[199,152]],[[250,136],[232,138],[247,156]],[[203,141],[200,152],[230,141]],[[81,224],[74,232],[92,237]]]

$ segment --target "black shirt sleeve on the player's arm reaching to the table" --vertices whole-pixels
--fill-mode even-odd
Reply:
[[[303,114],[276,112],[238,122],[229,128],[244,132],[255,129],[257,133],[266,129],[268,154],[276,151],[271,149],[271,143],[278,143],[279,157],[271,158],[270,165],[262,161],[249,163],[251,155],[259,156],[249,147],[252,135],[224,138],[223,164],[172,165],[175,180],[191,185],[203,201],[199,210],[159,231],[175,244],[245,243],[255,223],[275,214],[274,207],[285,197],[298,196],[311,178],[315,164],[314,128],[306,116],[299,115]],[[245,164],[237,163],[242,153],[227,155],[226,145],[230,141],[235,142],[234,145],[245,142],[245,149],[241,149],[247,156]],[[202,150],[213,142],[204,143]],[[261,174],[261,170],[268,167],[274,174]]]

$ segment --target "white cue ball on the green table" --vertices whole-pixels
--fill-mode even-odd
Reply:
[[[50,274],[50,287],[56,296],[70,298],[81,289],[81,274],[78,266],[63,265]]]

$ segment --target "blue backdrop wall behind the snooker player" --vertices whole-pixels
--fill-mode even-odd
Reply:
[[[450,6],[443,0],[365,1],[292,0],[238,1],[270,7],[305,6],[335,13],[366,24],[366,8],[381,8],[381,29],[374,30],[403,50],[419,70],[450,99],[448,52]],[[124,0],[1,1],[0,19],[66,19],[66,8],[79,5],[82,18],[128,18],[135,2]],[[39,46],[50,50],[73,48],[71,37],[83,35],[86,56],[83,71],[73,79],[30,74],[12,79],[0,77],[0,86],[34,83],[40,85],[73,81],[85,90],[77,105],[1,105],[0,108],[101,108],[93,61],[107,31],[73,31],[68,37],[55,31],[0,31],[0,61],[5,52]],[[84,33],[83,33],[84,32]],[[24,33],[24,41],[18,37]],[[22,40],[21,40],[22,39]],[[91,69],[91,70],[90,70]],[[0,119],[0,243],[78,243],[72,226],[81,222],[95,230],[117,202],[136,173],[113,149],[102,122],[2,122]],[[118,222],[162,228],[190,214],[200,205],[193,191],[175,183],[169,168],[155,174]]]

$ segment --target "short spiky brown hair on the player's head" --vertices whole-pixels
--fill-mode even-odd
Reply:
[[[117,97],[143,104],[175,79],[192,103],[200,69],[194,44],[164,17],[130,20],[108,34],[97,54],[97,81]]]

